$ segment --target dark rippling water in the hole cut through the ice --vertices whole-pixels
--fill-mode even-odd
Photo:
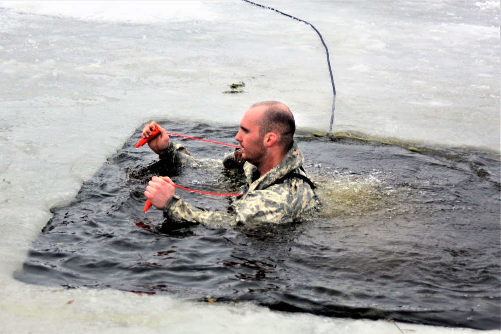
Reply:
[[[172,132],[234,143],[235,128],[165,123]],[[254,301],[335,317],[500,328],[499,156],[476,149],[408,149],[297,136],[319,186],[319,212],[301,224],[221,228],[164,223],[142,212],[152,175],[237,192],[220,159],[231,149],[181,140],[195,168],[162,166],[139,130],[53,209],[15,277],[34,284],[115,288],[181,298]],[[224,210],[225,197],[177,191]]]

